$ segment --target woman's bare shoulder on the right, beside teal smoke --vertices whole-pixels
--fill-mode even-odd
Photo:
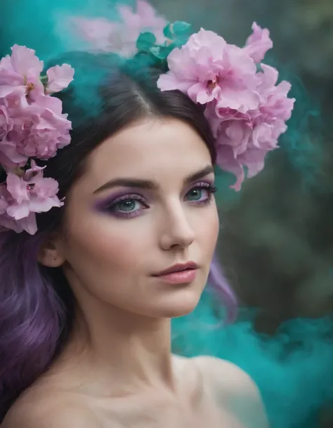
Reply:
[[[244,370],[211,356],[197,357],[195,362],[202,371],[208,392],[237,416],[242,427],[268,427],[259,388]]]

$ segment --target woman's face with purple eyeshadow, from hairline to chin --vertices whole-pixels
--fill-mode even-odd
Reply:
[[[78,301],[157,318],[192,311],[218,235],[213,192],[209,150],[187,124],[145,119],[108,138],[66,199],[59,251]],[[157,275],[188,262],[197,270]]]

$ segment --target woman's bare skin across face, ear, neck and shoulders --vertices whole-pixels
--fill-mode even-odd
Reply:
[[[119,177],[154,186],[104,186]],[[202,187],[213,181],[206,145],[176,120],[138,122],[91,153],[66,198],[65,236],[54,235],[39,257],[63,266],[77,300],[72,335],[1,428],[267,427],[242,370],[171,354],[171,318],[195,309],[216,246],[214,196]],[[115,192],[132,202],[105,209]],[[134,214],[119,216],[128,209]],[[187,261],[197,264],[188,283],[155,276]]]

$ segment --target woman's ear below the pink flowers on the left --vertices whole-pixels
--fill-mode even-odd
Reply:
[[[58,268],[65,263],[63,252],[63,238],[53,233],[43,242],[39,249],[37,260],[48,268]]]

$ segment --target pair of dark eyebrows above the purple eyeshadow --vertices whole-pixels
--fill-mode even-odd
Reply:
[[[211,167],[211,165],[207,165],[207,167],[204,167],[204,169],[200,169],[200,171],[197,171],[194,174],[191,174],[190,176],[186,177],[184,180],[184,185],[193,183],[193,181],[200,180],[211,173],[214,173],[214,168]],[[157,190],[159,188],[159,185],[156,181],[150,181],[150,180],[131,179],[131,178],[114,179],[114,180],[107,181],[107,183],[103,184],[103,186],[100,186],[98,189],[94,190],[93,193],[94,194],[100,193],[100,192],[103,192],[103,190],[107,190],[114,187],[130,187],[130,188]]]

